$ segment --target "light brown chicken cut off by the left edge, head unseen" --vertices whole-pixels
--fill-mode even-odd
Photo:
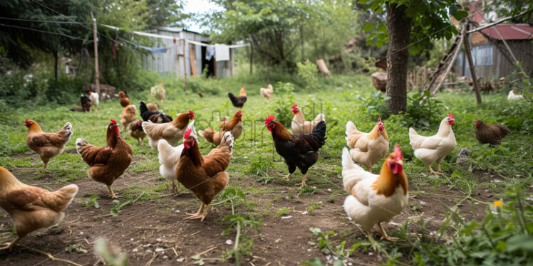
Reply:
[[[71,203],[77,192],[78,186],[74,184],[63,186],[53,192],[26,185],[0,166],[0,206],[13,219],[17,235],[13,242],[0,249],[11,250],[29,233],[61,223],[65,217],[63,210]]]

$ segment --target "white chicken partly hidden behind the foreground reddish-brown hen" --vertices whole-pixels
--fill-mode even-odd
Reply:
[[[191,136],[198,139],[194,121],[189,123],[187,126],[187,130],[188,129],[192,130]],[[172,181],[172,192],[177,193],[180,191],[180,183],[177,183],[176,186],[176,166],[182,156],[183,144],[178,145],[177,147],[172,147],[172,145],[170,145],[165,139],[160,139],[159,142],[157,142],[157,150],[159,151],[159,163],[161,164],[161,166],[159,166],[159,173],[165,179]]]

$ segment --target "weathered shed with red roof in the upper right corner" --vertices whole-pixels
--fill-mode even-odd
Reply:
[[[465,6],[470,7],[470,18],[483,26],[487,20],[497,20],[495,14],[480,14],[481,1],[473,1]],[[484,18],[485,17],[485,18]],[[452,23],[458,21],[452,18]],[[500,34],[498,34],[500,33]],[[517,60],[522,61],[522,68],[528,75],[533,73],[533,26],[528,24],[499,24],[482,31],[470,34],[472,60],[476,74],[484,80],[495,80],[513,73],[516,68],[509,50],[504,46],[504,40]],[[472,78],[464,51],[455,60],[455,75]]]

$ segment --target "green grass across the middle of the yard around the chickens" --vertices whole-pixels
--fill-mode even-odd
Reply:
[[[348,120],[356,124],[358,129],[368,132],[376,124],[376,115],[367,112],[363,108],[364,102],[361,99],[369,99],[375,89],[371,85],[371,80],[366,75],[336,76],[321,80],[321,90],[306,91],[305,87],[296,83],[294,92],[287,95],[279,95],[279,91],[274,85],[274,96],[267,100],[259,95],[259,87],[265,87],[266,83],[255,75],[252,77],[229,78],[224,80],[201,80],[192,79],[190,83],[194,87],[194,92],[183,92],[180,85],[166,86],[167,97],[165,102],[160,104],[160,109],[164,110],[172,117],[181,112],[193,110],[196,113],[195,126],[197,130],[217,125],[220,116],[232,117],[237,108],[228,104],[229,100],[226,92],[238,92],[243,85],[247,87],[248,101],[242,108],[244,113],[244,134],[237,139],[234,144],[234,156],[227,171],[232,180],[249,180],[251,186],[242,188],[247,194],[247,201],[242,204],[242,208],[247,214],[255,216],[272,216],[279,218],[291,211],[289,208],[279,208],[277,201],[290,201],[300,204],[301,198],[313,198],[316,193],[328,191],[328,201],[342,204],[346,191],[338,186],[338,179],[341,179],[341,152],[345,147],[344,139],[345,125]],[[273,80],[277,81],[277,80]],[[202,92],[202,88],[214,87],[217,90],[209,90],[204,98],[198,97],[195,92]],[[138,105],[140,100],[153,102],[153,98],[148,96],[149,88],[146,91],[133,93],[130,98],[131,103]],[[279,99],[284,97],[284,101]],[[484,103],[480,106],[475,104],[475,96],[468,92],[440,92],[438,100],[443,102],[445,112],[439,115],[445,117],[450,112],[455,115],[453,131],[457,139],[457,148],[452,151],[441,164],[445,176],[431,176],[428,174],[428,167],[413,156],[413,149],[410,147],[408,139],[408,119],[405,115],[391,115],[385,119],[385,128],[390,139],[390,147],[398,144],[404,156],[404,169],[407,173],[410,193],[432,193],[429,188],[446,186],[450,191],[458,191],[463,195],[477,195],[478,193],[494,193],[495,198],[500,198],[509,188],[527,189],[533,183],[533,137],[530,132],[513,130],[503,139],[500,147],[487,147],[481,145],[475,139],[474,122],[476,119],[483,119],[487,122],[502,122],[500,112],[506,108],[507,95],[504,92],[482,95]],[[282,104],[283,106],[278,106]],[[309,169],[308,186],[299,191],[286,191],[284,187],[299,186],[301,174],[296,171],[289,181],[281,178],[287,174],[286,165],[283,159],[276,154],[272,144],[270,132],[264,128],[264,117],[274,115],[274,108],[286,109],[291,112],[290,106],[298,104],[304,110],[315,110],[312,114],[306,114],[306,119],[315,117],[319,112],[324,112],[328,125],[326,145],[321,149],[319,161]],[[36,174],[36,169],[43,164],[41,159],[26,147],[26,127],[24,119],[33,119],[45,132],[56,132],[65,122],[73,124],[73,137],[66,146],[65,152],[60,156],[51,159],[45,173],[53,174],[53,178],[64,183],[70,183],[80,179],[88,179],[86,169],[88,165],[81,160],[76,153],[75,142],[77,138],[88,140],[90,144],[98,146],[105,145],[105,130],[109,119],[120,120],[121,107],[117,100],[100,102],[98,112],[80,113],[68,111],[70,106],[46,105],[36,107],[35,110],[11,110],[0,118],[0,136],[3,136],[3,144],[0,147],[0,166],[23,171],[24,181],[31,183],[32,179],[41,178],[41,174]],[[289,113],[289,115],[291,115]],[[140,115],[138,115],[140,119]],[[435,134],[438,124],[429,124],[427,129],[421,129],[413,125],[419,134]],[[128,137],[122,132],[126,142],[133,148],[134,159],[127,174],[147,175],[150,181],[157,181],[155,187],[144,188],[143,186],[131,183],[127,188],[118,189],[123,201],[139,200],[141,204],[145,200],[154,200],[162,203],[162,195],[168,193],[169,183],[160,179],[158,172],[159,161],[157,151],[150,149],[148,139],[144,140],[144,146],[139,146],[137,141]],[[200,151],[207,154],[213,147],[212,144],[199,139]],[[456,163],[457,154],[463,148],[472,150],[467,161],[461,164]],[[383,160],[373,167],[373,172],[379,171]],[[454,174],[451,174],[454,173]],[[27,174],[27,175],[26,175]],[[495,179],[500,182],[494,183]],[[267,183],[269,186],[267,186]],[[229,184],[228,188],[235,188],[236,184]],[[182,187],[182,189],[185,189]],[[142,194],[142,196],[140,196]],[[256,195],[271,195],[273,203],[254,201]],[[524,197],[527,198],[527,197]],[[87,196],[82,202],[88,208],[98,208],[97,198]],[[122,202],[122,201],[121,201]],[[98,204],[98,203],[97,203]],[[175,206],[192,206],[197,208],[197,201],[181,201],[174,203]],[[120,206],[120,205],[119,205]],[[161,210],[165,210],[164,203]],[[306,207],[309,213],[321,210],[321,203],[314,203]],[[414,210],[420,206],[412,206]],[[118,213],[118,210],[117,210]],[[341,214],[344,216],[344,214]],[[349,238],[349,234],[346,238]],[[343,236],[344,238],[344,236]],[[393,257],[396,247],[393,245],[384,246],[385,250]],[[385,257],[388,257],[385,255]],[[410,254],[406,260],[413,261],[415,254]],[[425,258],[426,260],[427,258]]]

